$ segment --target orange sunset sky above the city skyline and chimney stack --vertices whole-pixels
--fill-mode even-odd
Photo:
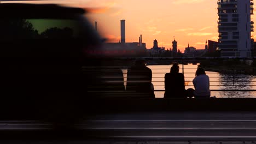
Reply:
[[[158,40],[159,47],[188,46],[204,49],[206,40],[218,39],[216,0],[55,0],[75,7],[90,8],[90,21],[109,42],[120,40],[120,20],[126,20],[126,42],[138,42],[142,34],[147,49]],[[42,2],[41,2],[42,3]],[[255,15],[252,15],[252,20]],[[254,32],[252,33],[254,35]]]

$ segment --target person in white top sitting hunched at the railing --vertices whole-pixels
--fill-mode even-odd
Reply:
[[[209,76],[206,75],[205,70],[203,68],[198,68],[196,70],[196,77],[193,80],[193,84],[195,87],[194,95],[195,98],[210,98],[210,79]]]

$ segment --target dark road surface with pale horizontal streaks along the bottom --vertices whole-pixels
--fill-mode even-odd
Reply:
[[[132,112],[91,115],[75,130],[1,121],[0,142],[256,143],[256,112]]]

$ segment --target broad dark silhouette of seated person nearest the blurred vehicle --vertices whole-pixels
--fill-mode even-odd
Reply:
[[[126,91],[133,97],[155,98],[152,70],[146,67],[144,58],[137,58],[135,65],[127,71]]]

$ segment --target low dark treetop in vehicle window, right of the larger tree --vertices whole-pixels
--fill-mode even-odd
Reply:
[[[41,37],[44,39],[70,39],[73,37],[73,29],[69,27],[65,28],[48,28],[41,33]]]

